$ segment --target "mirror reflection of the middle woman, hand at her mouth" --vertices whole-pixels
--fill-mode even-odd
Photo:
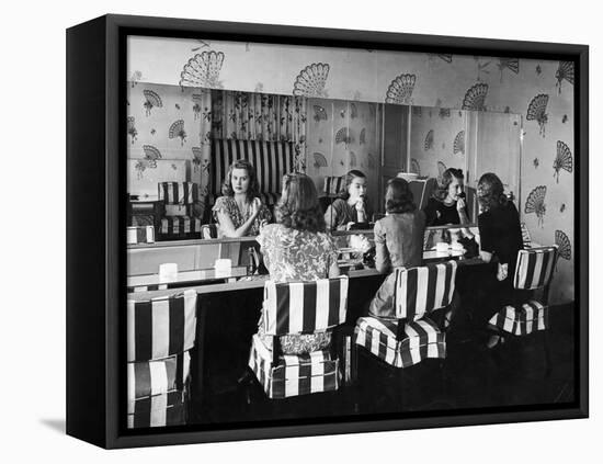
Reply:
[[[338,199],[325,213],[328,230],[345,230],[350,223],[368,223],[373,216],[366,199],[366,176],[359,170],[345,174]]]

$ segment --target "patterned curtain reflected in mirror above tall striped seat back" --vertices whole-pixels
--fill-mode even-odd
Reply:
[[[292,142],[298,171],[306,171],[303,97],[212,90],[212,138]]]

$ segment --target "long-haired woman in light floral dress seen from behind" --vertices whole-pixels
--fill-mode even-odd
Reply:
[[[257,238],[272,280],[315,281],[340,274],[338,250],[332,237],[325,233],[325,218],[310,178],[286,174],[274,214],[276,224],[264,226]],[[258,332],[272,348],[271,339],[263,336],[262,320]],[[289,335],[281,337],[281,347],[285,354],[300,354],[322,350],[330,341],[328,332]]]

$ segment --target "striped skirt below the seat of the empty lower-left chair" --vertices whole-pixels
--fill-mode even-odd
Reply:
[[[127,427],[168,427],[186,423],[184,392],[173,391],[128,401]]]

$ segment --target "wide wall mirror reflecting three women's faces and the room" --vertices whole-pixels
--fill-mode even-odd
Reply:
[[[196,136],[183,118],[167,134],[128,118],[130,247],[203,239],[224,248],[220,239],[255,237],[275,222],[284,176],[295,171],[314,182],[327,231],[360,229],[364,234],[351,236],[371,240],[391,226],[388,216],[400,214],[388,212],[387,195],[392,179],[405,180],[424,219],[412,223],[422,242],[417,249],[425,250],[473,236],[480,173],[497,172],[507,192],[519,193],[521,121],[514,114],[170,86],[132,90],[128,104],[157,111],[160,94],[180,102],[166,122],[190,110],[200,146],[192,160],[179,147]],[[143,136],[157,144],[134,143]],[[430,231],[434,226],[452,227]]]

